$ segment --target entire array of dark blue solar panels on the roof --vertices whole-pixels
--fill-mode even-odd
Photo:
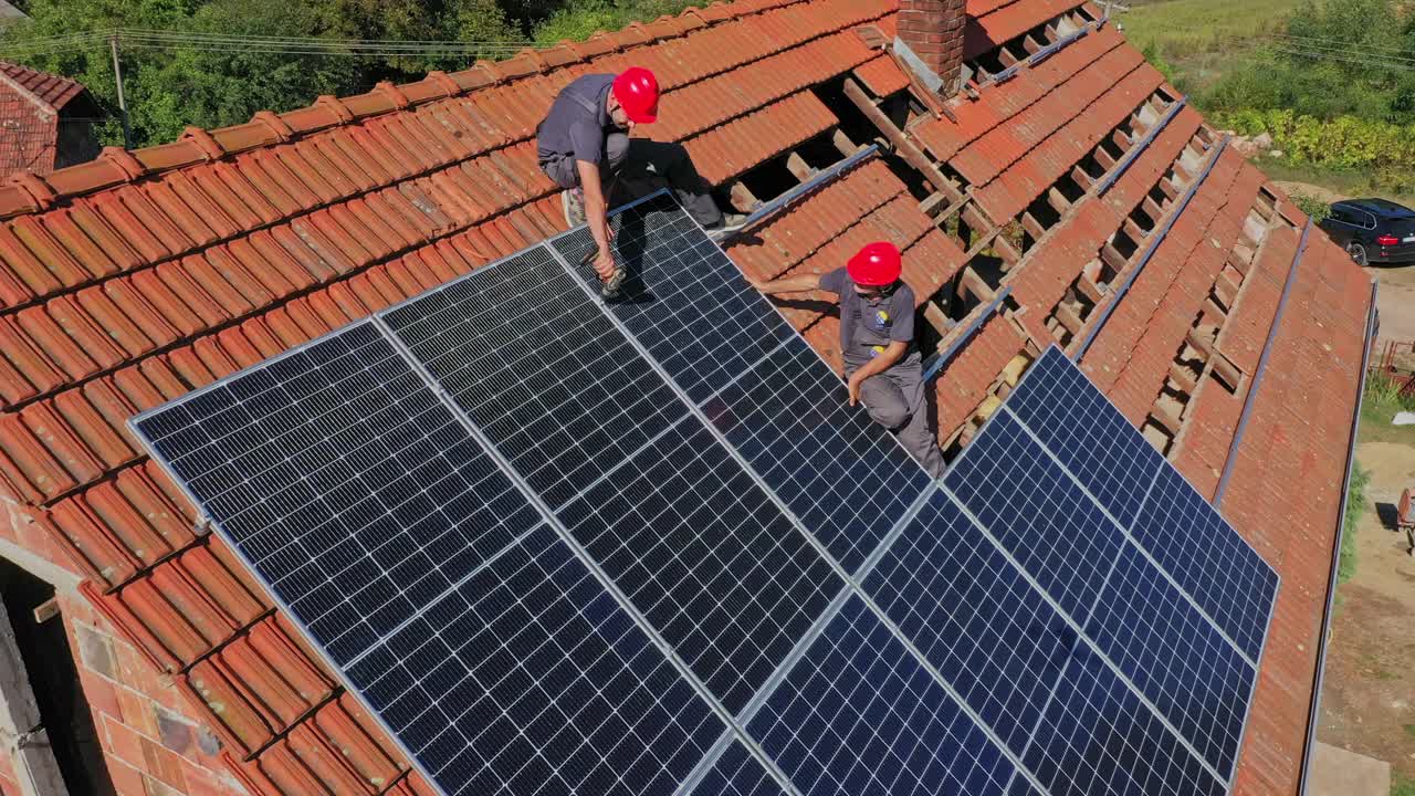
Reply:
[[[427,778],[1225,793],[1278,582],[1056,348],[932,482],[661,194],[134,418]]]

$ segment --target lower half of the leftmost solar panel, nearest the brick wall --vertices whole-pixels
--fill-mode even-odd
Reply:
[[[672,793],[724,729],[546,527],[348,674],[458,796]]]

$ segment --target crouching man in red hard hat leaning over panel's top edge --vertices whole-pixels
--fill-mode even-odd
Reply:
[[[724,229],[741,217],[724,217],[712,187],[678,143],[631,139],[635,125],[658,119],[658,78],[631,67],[618,75],[584,75],[560,89],[536,127],[541,169],[563,188],[560,203],[570,227],[587,224],[599,251],[594,271],[611,296],[624,279],[610,251],[610,201],[627,201],[664,186],[705,229]]]

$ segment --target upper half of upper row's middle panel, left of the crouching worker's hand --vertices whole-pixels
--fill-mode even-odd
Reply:
[[[688,414],[545,246],[382,319],[552,507]]]

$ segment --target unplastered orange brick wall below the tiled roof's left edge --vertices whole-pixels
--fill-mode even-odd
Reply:
[[[6,514],[0,555],[55,585],[93,729],[119,796],[245,795],[221,756],[216,735],[192,718],[170,678],[74,589],[79,576],[65,554],[21,513]],[[0,796],[20,795],[16,766],[0,748]]]

